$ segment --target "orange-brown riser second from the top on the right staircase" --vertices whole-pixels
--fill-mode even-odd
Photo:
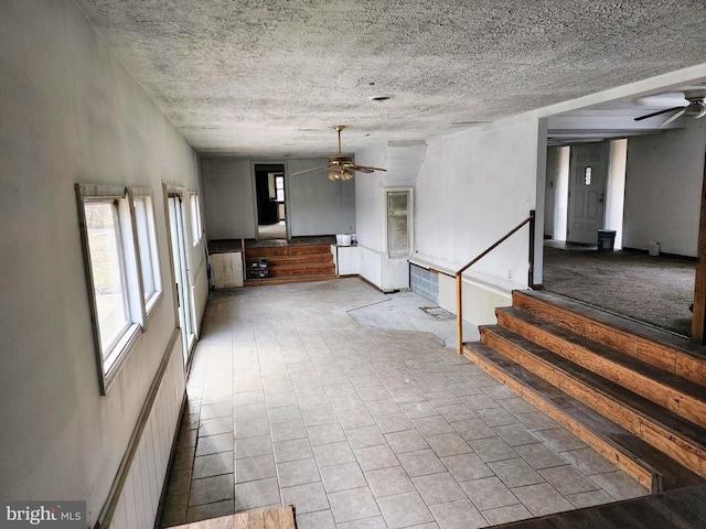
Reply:
[[[502,311],[498,312],[498,324],[623,388],[630,389],[695,424],[706,427],[706,402],[704,401],[664,386],[579,344],[567,342],[541,326],[523,322]]]

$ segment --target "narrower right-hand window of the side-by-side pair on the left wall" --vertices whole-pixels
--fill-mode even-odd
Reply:
[[[149,314],[162,291],[152,191],[150,188],[132,188],[130,191],[133,197],[135,227],[142,277],[142,303],[146,314]]]

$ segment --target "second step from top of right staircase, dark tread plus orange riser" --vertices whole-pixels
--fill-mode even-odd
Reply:
[[[706,387],[665,371],[652,364],[644,363],[633,356],[622,354],[614,348],[601,345],[518,309],[502,307],[498,309],[496,313],[499,324],[502,326],[506,326],[535,343],[546,345],[547,349],[563,357],[567,356],[557,349],[565,349],[566,347],[563,344],[570,344],[580,352],[580,360],[592,364],[596,371],[601,373],[606,378],[610,378],[613,381],[619,378],[623,380],[623,384],[632,382],[630,389],[633,391],[654,400],[675,413],[683,412],[683,417],[699,423],[702,427],[706,425]],[[507,317],[521,325],[514,325],[513,322],[507,321]],[[523,334],[515,328],[522,326],[522,324],[530,326],[527,334],[532,334],[532,336]],[[555,343],[559,341],[559,345],[547,344],[547,336],[555,338],[553,341]],[[576,361],[571,358],[569,360]],[[599,371],[600,366],[598,364],[603,365],[605,369]],[[585,365],[585,367],[587,366]],[[620,376],[621,374],[623,376]],[[628,378],[632,378],[632,380],[627,380]]]

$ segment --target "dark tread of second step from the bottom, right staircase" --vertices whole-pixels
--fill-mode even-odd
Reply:
[[[482,328],[483,331],[492,332],[493,334],[501,336],[506,342],[515,344],[521,347],[525,354],[550,365],[555,371],[561,373],[565,377],[578,380],[579,382],[596,389],[602,396],[618,402],[621,407],[624,407],[641,418],[662,425],[675,436],[678,436],[683,442],[694,445],[702,453],[706,454],[706,445],[704,444],[706,442],[705,428],[694,424],[693,422],[665,410],[651,400],[645,399],[644,397],[641,397],[577,364],[574,364],[571,360],[567,360],[563,356],[556,355],[541,345],[516,335],[512,331],[492,325],[484,326]]]

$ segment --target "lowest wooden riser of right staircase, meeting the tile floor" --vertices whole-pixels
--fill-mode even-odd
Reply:
[[[509,377],[505,373],[498,369],[493,364],[486,363],[482,357],[474,355],[472,349],[464,347],[463,353],[468,358],[473,360],[478,366],[484,369],[496,380],[512,388],[528,402],[537,407],[539,410],[544,411],[557,423],[569,430],[571,433],[574,433],[574,435],[579,438],[581,441],[588,444],[596,452],[600,453],[616,466],[628,473],[649,490],[655,493],[660,489],[659,483],[655,483],[655,476],[649,469],[642,467],[637,462],[624,457],[623,454],[617,452],[610,444],[605,443],[598,435],[593,434],[593,432],[574,421],[571,417],[563,413],[561,410],[552,406],[541,397],[537,397],[530,388],[516,381],[512,377]]]

